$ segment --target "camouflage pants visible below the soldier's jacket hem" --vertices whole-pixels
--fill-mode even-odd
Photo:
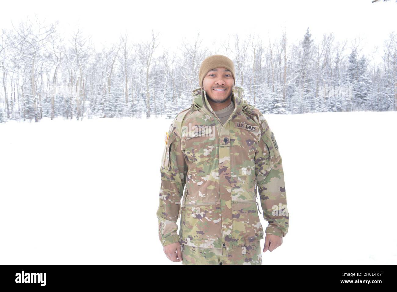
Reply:
[[[198,248],[182,244],[182,265],[262,265],[260,241],[227,251],[226,248]]]

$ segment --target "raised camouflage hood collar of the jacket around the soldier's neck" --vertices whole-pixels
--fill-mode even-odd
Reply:
[[[235,104],[236,113],[248,108],[248,102],[243,98],[244,89],[242,87],[233,86],[231,100]],[[193,101],[190,106],[192,110],[200,110],[205,108],[209,112],[214,113],[210,103],[208,102],[207,95],[204,89],[197,88],[192,93]]]

